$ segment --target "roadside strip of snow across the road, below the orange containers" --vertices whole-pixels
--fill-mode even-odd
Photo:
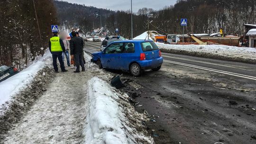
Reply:
[[[169,45],[163,43],[155,43],[160,49],[178,50],[192,53],[207,53],[209,55],[219,55],[230,59],[248,59],[256,61],[256,49],[249,47],[237,47],[228,45]]]

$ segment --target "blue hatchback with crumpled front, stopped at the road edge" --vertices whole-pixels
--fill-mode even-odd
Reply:
[[[113,42],[102,52],[92,54],[92,62],[101,68],[128,71],[140,76],[147,69],[158,71],[163,57],[152,40],[123,40]]]

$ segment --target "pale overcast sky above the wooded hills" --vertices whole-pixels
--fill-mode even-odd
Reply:
[[[63,0],[70,3],[85,4],[96,8],[111,10],[129,10],[131,0]],[[137,12],[141,8],[162,9],[165,6],[174,5],[176,0],[132,0],[132,11]]]

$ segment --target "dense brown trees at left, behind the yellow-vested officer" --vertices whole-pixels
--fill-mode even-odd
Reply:
[[[25,68],[44,53],[51,24],[58,24],[53,0],[0,0],[0,12],[0,65]]]

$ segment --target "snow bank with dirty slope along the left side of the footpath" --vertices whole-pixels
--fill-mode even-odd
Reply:
[[[49,58],[50,53],[47,52],[27,69],[0,83],[0,140],[46,90],[45,84],[54,76],[46,66]]]

